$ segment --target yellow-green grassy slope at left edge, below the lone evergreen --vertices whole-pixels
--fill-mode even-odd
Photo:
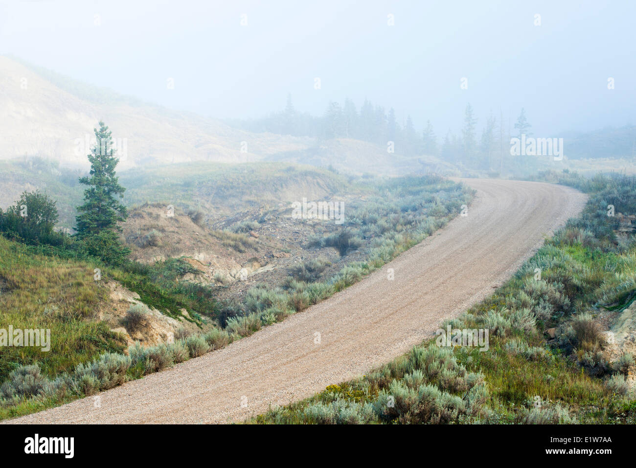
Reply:
[[[0,381],[16,364],[38,361],[55,375],[104,351],[121,351],[123,343],[95,320],[108,302],[104,283],[93,280],[87,262],[33,255],[22,244],[0,236],[0,309],[3,327],[50,329],[52,352],[38,347],[3,348]]]

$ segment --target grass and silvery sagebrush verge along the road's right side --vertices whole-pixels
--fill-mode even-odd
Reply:
[[[494,295],[443,324],[487,329],[487,351],[427,340],[365,376],[248,422],[635,423],[624,376],[633,357],[607,360],[593,316],[633,301],[636,243],[616,238],[607,206],[636,213],[636,180],[567,173],[541,180],[590,198]]]

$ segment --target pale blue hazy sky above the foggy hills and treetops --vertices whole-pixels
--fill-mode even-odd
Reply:
[[[523,106],[548,137],[636,123],[635,17],[633,0],[0,0],[0,53],[212,117],[259,117],[287,92],[320,115],[368,97],[442,136],[469,102],[480,127]]]

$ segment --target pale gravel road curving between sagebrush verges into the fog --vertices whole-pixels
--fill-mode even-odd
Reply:
[[[586,199],[545,183],[463,181],[478,190],[468,216],[347,290],[223,350],[103,392],[100,408],[88,397],[9,422],[237,421],[391,360],[492,294]]]

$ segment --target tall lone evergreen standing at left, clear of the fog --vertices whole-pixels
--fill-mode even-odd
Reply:
[[[118,263],[129,252],[120,245],[121,228],[117,224],[127,217],[127,209],[119,201],[126,189],[115,174],[119,159],[114,156],[112,132],[104,122],[99,122],[99,129],[94,131],[97,141],[88,155],[90,173],[79,178],[79,183],[88,188],[84,191],[84,204],[78,206],[76,236],[85,242],[90,255]]]

